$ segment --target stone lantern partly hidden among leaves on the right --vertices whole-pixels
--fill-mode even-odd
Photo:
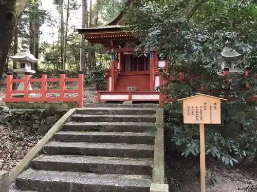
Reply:
[[[235,61],[242,59],[243,55],[231,48],[225,47],[221,56],[222,70],[224,68],[229,68],[229,73],[238,73],[238,70],[234,68],[234,63]]]

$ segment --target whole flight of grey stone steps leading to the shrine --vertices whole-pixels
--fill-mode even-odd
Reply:
[[[83,108],[47,143],[16,187],[40,192],[149,192],[154,108]]]

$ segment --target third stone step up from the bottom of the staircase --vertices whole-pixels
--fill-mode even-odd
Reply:
[[[130,158],[153,158],[154,147],[147,144],[127,143],[84,143],[58,142],[47,143],[43,152],[46,154],[87,155]]]

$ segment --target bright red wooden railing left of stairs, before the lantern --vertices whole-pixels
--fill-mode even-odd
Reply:
[[[29,73],[25,73],[24,79],[13,79],[12,73],[7,73],[6,78],[6,97],[3,98],[4,102],[78,102],[78,107],[83,107],[84,75],[79,71],[78,78],[68,78],[65,72],[61,71],[60,78],[48,78],[46,74],[42,75],[40,79],[30,78]],[[24,83],[24,91],[12,90],[12,83]],[[41,82],[41,90],[29,90],[31,82]],[[47,90],[47,82],[59,82],[59,90]],[[65,90],[65,82],[78,82],[77,90]],[[41,94],[42,97],[30,97],[29,94]],[[59,93],[59,97],[47,97],[48,93]],[[77,93],[78,97],[65,97],[66,93]],[[12,97],[12,94],[24,94],[24,97]]]

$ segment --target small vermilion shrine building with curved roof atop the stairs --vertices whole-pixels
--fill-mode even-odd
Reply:
[[[133,0],[127,0],[126,6],[132,3]],[[164,68],[166,61],[159,60],[157,52],[135,52],[139,40],[124,29],[124,23],[121,12],[104,26],[78,29],[91,45],[102,44],[112,53],[112,67],[105,72],[107,91],[98,91],[96,100],[159,101],[159,68]]]

